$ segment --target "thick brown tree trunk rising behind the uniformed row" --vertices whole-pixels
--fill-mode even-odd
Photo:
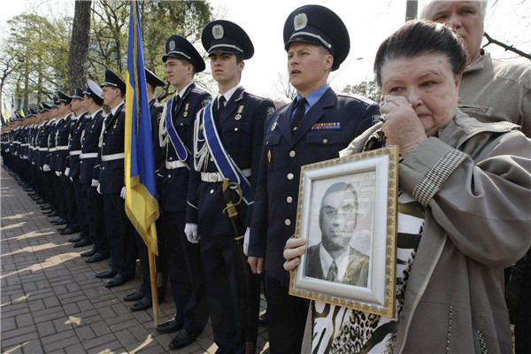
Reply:
[[[68,90],[76,86],[84,89],[87,81],[89,58],[90,6],[91,0],[76,0],[73,15],[72,39],[70,40]]]

